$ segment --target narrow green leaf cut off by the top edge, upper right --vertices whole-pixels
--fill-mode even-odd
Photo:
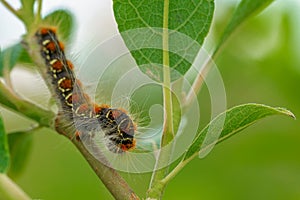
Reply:
[[[273,1],[275,0],[242,0],[236,8],[227,27],[225,28],[225,31],[221,36],[215,53],[243,22],[245,22],[249,17],[258,14],[264,8],[269,6]]]

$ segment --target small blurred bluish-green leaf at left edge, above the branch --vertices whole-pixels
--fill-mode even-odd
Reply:
[[[0,54],[0,76],[3,76],[4,71],[9,72],[17,63],[23,51],[22,45],[16,44],[1,52]]]

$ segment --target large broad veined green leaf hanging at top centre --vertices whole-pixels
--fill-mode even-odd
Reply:
[[[169,51],[172,80],[184,75],[201,48],[214,13],[213,0],[113,0],[113,7],[119,32],[138,66],[159,81],[163,49]],[[164,29],[169,37],[166,48]]]

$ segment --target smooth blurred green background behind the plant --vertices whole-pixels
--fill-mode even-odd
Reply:
[[[210,40],[221,34],[234,5],[217,1]],[[276,2],[243,24],[228,41],[216,60],[228,107],[263,103],[286,107],[300,117],[300,16],[296,5],[296,0]],[[38,97],[38,91],[34,92]],[[206,95],[204,89],[199,96]],[[210,108],[202,103],[201,109],[205,116]],[[11,120],[14,117],[6,118],[8,128],[16,128]],[[299,121],[270,117],[217,145],[204,159],[194,159],[171,181],[164,199],[298,200],[299,154]],[[125,173],[124,177],[144,197],[150,174]],[[45,129],[33,134],[28,162],[15,180],[35,199],[112,199],[75,147]]]

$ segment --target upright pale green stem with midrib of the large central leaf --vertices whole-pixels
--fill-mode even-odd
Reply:
[[[164,124],[161,140],[161,149],[168,145],[174,138],[173,105],[171,91],[171,73],[169,58],[169,0],[164,1],[163,17],[163,99],[164,99]],[[168,173],[169,168],[164,165],[169,161],[172,148],[160,150],[156,160],[155,171],[152,174],[148,198],[160,199],[164,186],[160,184],[161,179]]]

